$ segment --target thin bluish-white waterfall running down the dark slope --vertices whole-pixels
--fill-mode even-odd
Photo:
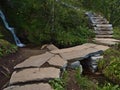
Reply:
[[[14,32],[14,28],[9,26],[8,22],[6,21],[5,15],[3,14],[3,12],[1,10],[0,10],[0,17],[5,25],[5,28],[12,33],[16,45],[18,47],[24,47],[25,45],[22,44],[21,41],[19,40],[19,38],[16,36],[16,34]]]

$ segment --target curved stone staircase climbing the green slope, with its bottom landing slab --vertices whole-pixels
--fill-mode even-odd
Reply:
[[[89,17],[90,25],[96,34],[94,39],[96,43],[111,46],[120,42],[120,40],[113,39],[113,26],[109,24],[107,19],[92,12],[86,12],[85,14]]]

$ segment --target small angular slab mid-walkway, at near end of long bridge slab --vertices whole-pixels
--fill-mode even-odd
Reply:
[[[55,55],[52,57],[48,63],[50,65],[58,66],[58,67],[63,67],[64,65],[67,65],[67,61],[65,61],[63,58],[61,58],[59,55]]]

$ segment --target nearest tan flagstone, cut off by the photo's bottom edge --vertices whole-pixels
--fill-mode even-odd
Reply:
[[[28,84],[23,86],[10,86],[4,90],[53,90],[47,83]]]

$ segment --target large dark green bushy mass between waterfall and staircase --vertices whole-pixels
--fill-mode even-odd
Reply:
[[[87,28],[83,10],[65,7],[55,0],[11,2],[16,11],[16,21],[19,22],[16,23],[19,34],[25,34],[23,38],[27,37],[31,43],[54,43],[68,47],[87,42],[93,36]]]

